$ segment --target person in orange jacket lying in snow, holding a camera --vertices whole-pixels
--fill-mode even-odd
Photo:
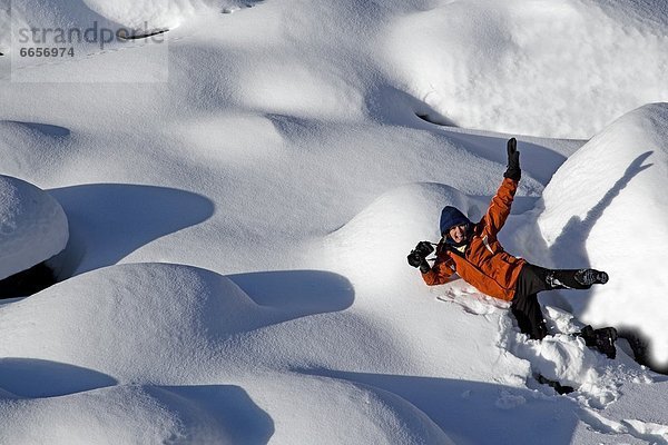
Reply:
[[[426,257],[434,250],[432,243],[421,241],[411,250],[409,264],[422,273],[430,285],[448,283],[456,273],[483,294],[511,301],[511,312],[520,330],[533,339],[542,339],[548,328],[538,303],[538,293],[551,289],[589,289],[595,284],[605,285],[608,274],[596,269],[547,269],[517,258],[503,250],[497,235],[510,215],[510,207],[521,177],[520,152],[514,138],[508,141],[508,169],[503,181],[492,198],[483,218],[473,224],[454,207],[441,212],[441,241],[436,258],[430,266]],[[615,358],[615,328],[592,329],[587,326],[579,333],[588,346]]]

